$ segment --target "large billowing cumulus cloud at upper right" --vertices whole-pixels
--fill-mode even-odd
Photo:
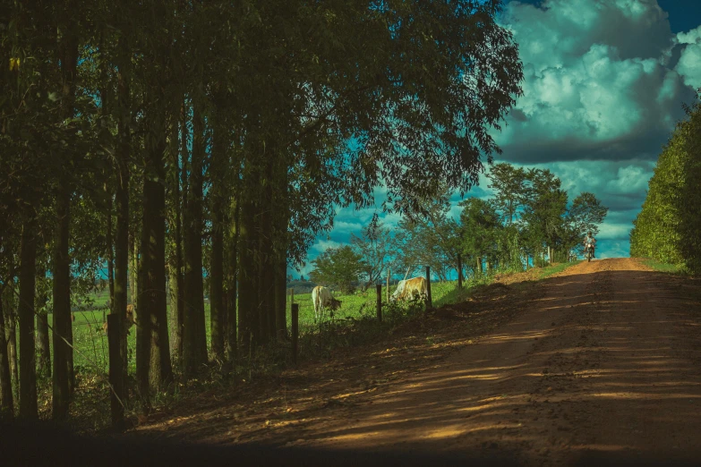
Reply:
[[[693,98],[680,68],[701,61],[688,47],[669,68],[678,40],[655,0],[514,1],[500,21],[525,74],[494,134],[510,160],[652,159]]]

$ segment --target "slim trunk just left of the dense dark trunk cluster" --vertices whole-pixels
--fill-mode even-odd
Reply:
[[[230,235],[227,254],[227,358],[229,361],[234,361],[238,350],[236,310],[238,309],[238,225],[241,206],[237,200],[238,196],[239,194],[236,191],[231,199]]]

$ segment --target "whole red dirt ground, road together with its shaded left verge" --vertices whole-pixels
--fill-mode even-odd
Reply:
[[[637,259],[528,282],[533,274],[434,310],[383,344],[202,395],[134,431],[208,444],[511,453],[527,465],[701,453],[697,281]]]

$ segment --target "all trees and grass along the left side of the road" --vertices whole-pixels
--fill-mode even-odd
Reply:
[[[119,427],[122,409],[284,367],[288,271],[338,208],[402,220],[313,260],[307,278],[345,303],[314,320],[295,298],[301,358],[420,316],[421,302],[388,303],[373,320],[387,276],[430,267],[440,305],[576,253],[607,209],[550,171],[492,164],[523,65],[500,1],[463,6],[0,9],[0,417],[106,420],[115,391]],[[494,195],[454,217],[487,163]],[[103,325],[129,305],[110,386]]]

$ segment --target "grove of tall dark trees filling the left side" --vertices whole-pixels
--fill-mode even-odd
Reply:
[[[497,0],[3,3],[2,413],[19,386],[19,414],[37,417],[35,339],[47,351],[50,336],[52,413],[66,419],[71,307],[105,264],[111,312],[136,304],[148,409],[177,375],[285,333],[286,266],[337,206],[370,205],[380,181],[396,212],[421,212],[439,176],[468,190],[521,93],[499,11]],[[126,362],[124,335],[121,352]]]

